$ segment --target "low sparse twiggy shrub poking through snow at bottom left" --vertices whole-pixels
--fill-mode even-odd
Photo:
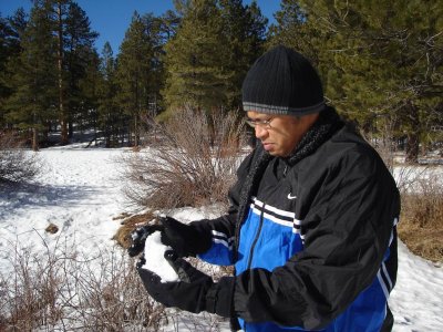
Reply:
[[[119,248],[86,259],[72,246],[19,248],[0,273],[0,331],[144,331],[166,320]],[[112,248],[111,248],[112,249]]]

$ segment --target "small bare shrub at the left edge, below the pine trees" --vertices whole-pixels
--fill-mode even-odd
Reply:
[[[12,133],[0,133],[0,184],[29,181],[40,173],[42,163],[38,154],[23,146],[24,142]]]

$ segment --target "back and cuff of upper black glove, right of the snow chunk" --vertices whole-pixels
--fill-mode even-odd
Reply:
[[[186,225],[171,217],[162,217],[162,242],[169,246],[178,257],[195,257],[207,251],[212,246],[209,234],[202,234],[192,225]]]

